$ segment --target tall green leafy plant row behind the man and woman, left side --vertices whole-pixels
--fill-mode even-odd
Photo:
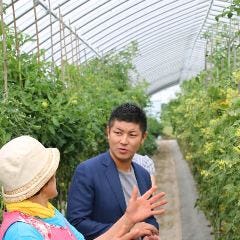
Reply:
[[[27,134],[47,147],[59,148],[56,204],[64,209],[76,165],[108,149],[105,128],[111,110],[123,102],[143,108],[149,105],[146,84],[133,85],[128,76],[129,70],[134,70],[131,61],[136,45],[80,66],[62,62],[61,67],[53,67],[52,63],[39,61],[35,54],[19,54],[14,33],[6,27],[5,32],[7,56],[0,48],[0,146]],[[21,46],[29,39],[18,34],[17,41]],[[3,94],[6,74],[7,97]],[[155,133],[149,130],[142,153],[152,154],[156,150]]]

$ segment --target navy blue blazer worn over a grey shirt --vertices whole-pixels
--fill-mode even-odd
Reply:
[[[132,163],[140,194],[151,187],[149,173]],[[126,203],[115,162],[109,152],[80,163],[68,193],[67,219],[91,240],[106,232],[125,212]],[[146,222],[158,228],[154,217]]]

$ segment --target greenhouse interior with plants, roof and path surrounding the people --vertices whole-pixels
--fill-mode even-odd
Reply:
[[[0,147],[29,135],[59,149],[63,215],[75,168],[109,148],[109,114],[130,102],[168,199],[161,240],[240,240],[239,0],[0,0],[0,12]],[[0,206],[1,223],[3,191]]]

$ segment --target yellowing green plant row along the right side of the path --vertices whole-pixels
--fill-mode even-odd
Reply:
[[[212,67],[184,81],[161,116],[192,169],[197,205],[217,240],[240,239],[240,52],[231,55],[233,49],[219,42],[208,59]]]

